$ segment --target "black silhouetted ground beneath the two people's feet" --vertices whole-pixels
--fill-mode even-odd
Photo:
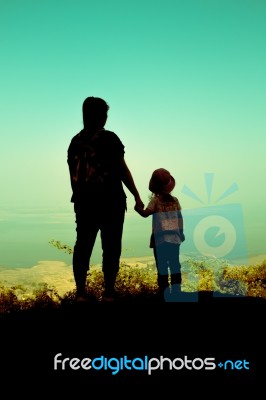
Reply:
[[[174,394],[181,386],[188,394],[191,390],[211,392],[210,398],[222,390],[231,393],[233,388],[238,394],[247,387],[264,393],[265,305],[266,300],[261,298],[201,294],[198,302],[187,299],[162,304],[132,298],[117,304],[91,302],[1,316],[1,382],[8,383],[9,388],[13,382],[26,391],[35,382],[39,391],[56,386],[59,390],[83,388],[88,393],[95,385],[101,390],[107,385],[123,388],[132,384],[140,391],[145,384],[150,389],[164,387],[165,394],[174,398],[179,397]],[[54,370],[58,353],[62,353],[61,359],[211,357],[216,365],[239,360],[243,366],[246,360],[249,369],[224,370],[217,366],[209,371],[169,371],[165,367],[151,375],[146,370],[124,369],[116,375],[111,370]]]

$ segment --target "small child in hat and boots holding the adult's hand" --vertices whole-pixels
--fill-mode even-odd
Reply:
[[[179,250],[185,236],[179,200],[171,195],[174,187],[175,179],[170,172],[164,168],[156,169],[149,182],[152,192],[149,204],[146,209],[135,206],[142,217],[153,217],[150,248],[154,252],[162,299],[167,295],[166,290],[171,290],[173,298],[178,295],[182,283]]]

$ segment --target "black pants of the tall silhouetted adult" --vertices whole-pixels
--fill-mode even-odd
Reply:
[[[112,291],[119,271],[122,234],[126,205],[75,204],[76,243],[73,254],[73,273],[78,293],[84,293],[90,257],[98,232],[102,244],[102,270],[106,291]]]

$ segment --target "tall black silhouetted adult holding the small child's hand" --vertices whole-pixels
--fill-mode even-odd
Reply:
[[[84,128],[68,147],[67,163],[72,187],[71,202],[76,216],[73,274],[77,301],[86,301],[86,280],[90,257],[98,232],[102,244],[104,292],[102,299],[115,300],[124,216],[127,208],[123,184],[143,203],[126,164],[124,145],[119,137],[104,129],[109,105],[98,97],[83,102]]]

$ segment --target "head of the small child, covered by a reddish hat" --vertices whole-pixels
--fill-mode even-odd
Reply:
[[[149,190],[155,194],[169,194],[175,187],[175,179],[164,168],[156,169],[151,176]]]

